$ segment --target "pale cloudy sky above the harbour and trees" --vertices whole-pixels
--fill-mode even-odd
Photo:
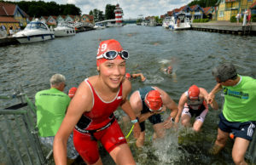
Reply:
[[[11,1],[14,2],[14,0]],[[44,0],[44,2],[50,1],[53,0]],[[143,14],[143,17],[160,16],[162,14],[166,14],[167,11],[172,9],[178,9],[191,1],[193,0],[56,0],[55,3],[75,4],[79,9],[81,9],[82,14],[89,14],[90,10],[93,9],[99,9],[105,13],[105,7],[107,4],[115,5],[119,3],[119,6],[124,12],[123,17],[125,19],[129,19],[138,18],[140,14]]]

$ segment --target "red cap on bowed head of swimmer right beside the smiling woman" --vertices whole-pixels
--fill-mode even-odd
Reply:
[[[163,105],[161,94],[158,90],[151,90],[146,94],[145,103],[150,111],[160,111]]]

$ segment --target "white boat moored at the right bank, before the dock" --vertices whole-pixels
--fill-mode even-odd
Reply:
[[[184,30],[191,28],[191,20],[186,17],[186,14],[177,14],[177,16],[172,16],[169,23],[170,30]]]

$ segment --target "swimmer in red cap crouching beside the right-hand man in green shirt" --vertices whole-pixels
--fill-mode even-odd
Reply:
[[[196,85],[189,87],[178,102],[177,122],[181,116],[183,126],[189,127],[191,117],[195,116],[193,129],[199,132],[208,112],[207,97],[208,93],[205,88],[198,88]],[[218,110],[218,103],[215,100],[210,105],[212,109]]]

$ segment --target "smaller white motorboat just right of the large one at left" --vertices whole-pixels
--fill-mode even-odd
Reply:
[[[73,27],[67,26],[65,24],[58,25],[54,28],[55,37],[66,37],[73,36],[76,34],[76,31]]]

